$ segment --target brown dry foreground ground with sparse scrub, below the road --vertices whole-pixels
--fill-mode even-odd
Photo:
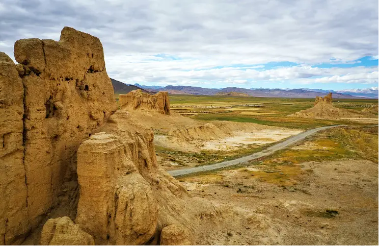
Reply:
[[[254,214],[249,227],[220,221],[204,228],[197,245],[379,245],[379,165],[303,163],[286,189],[269,177],[278,174],[263,175],[266,168],[179,178],[193,196]],[[290,173],[284,166],[279,171]]]

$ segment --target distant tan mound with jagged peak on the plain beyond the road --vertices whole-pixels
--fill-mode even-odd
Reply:
[[[290,117],[316,118],[316,119],[341,119],[341,118],[366,118],[372,117],[355,110],[337,108],[332,105],[332,93],[324,96],[316,96],[314,106],[310,109],[301,110]]]

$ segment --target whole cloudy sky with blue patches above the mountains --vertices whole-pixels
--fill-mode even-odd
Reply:
[[[1,0],[0,51],[63,27],[100,38],[111,78],[205,88],[379,88],[377,0]]]

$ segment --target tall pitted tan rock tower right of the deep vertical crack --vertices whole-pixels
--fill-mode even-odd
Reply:
[[[98,38],[64,28],[59,42],[21,39],[14,51],[24,70],[24,166],[30,223],[36,225],[62,202],[59,196],[68,197],[61,192],[74,188],[65,186],[75,181],[79,144],[116,105]]]

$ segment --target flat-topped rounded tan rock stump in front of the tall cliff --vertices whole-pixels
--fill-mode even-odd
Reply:
[[[104,132],[79,147],[76,223],[97,244],[141,245],[155,232],[157,205],[149,183],[126,155],[130,151],[119,137]]]

